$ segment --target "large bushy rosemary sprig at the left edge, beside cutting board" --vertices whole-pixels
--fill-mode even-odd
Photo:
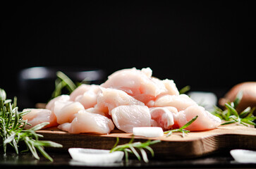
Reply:
[[[11,99],[6,99],[4,89],[0,89],[0,146],[3,146],[4,154],[6,154],[8,144],[13,146],[16,154],[19,154],[18,144],[25,142],[27,146],[25,151],[31,151],[35,158],[39,159],[38,150],[49,161],[53,161],[51,156],[44,151],[44,146],[62,147],[62,145],[51,141],[40,141],[39,138],[43,136],[36,133],[37,130],[42,129],[49,123],[41,123],[30,128],[30,130],[25,130],[25,125],[30,124],[27,123],[27,120],[23,120],[22,117],[30,111],[18,112],[16,101],[17,99],[14,99],[12,104]]]

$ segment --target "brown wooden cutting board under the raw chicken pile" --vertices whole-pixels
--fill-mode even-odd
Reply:
[[[71,147],[90,149],[111,149],[116,137],[119,144],[127,143],[132,134],[114,130],[110,134],[69,134],[57,128],[39,130],[45,140],[51,140],[63,145],[67,150]],[[145,142],[145,139],[160,139],[161,142],[152,145],[155,156],[159,158],[195,158],[212,154],[216,151],[228,151],[231,149],[256,150],[256,129],[243,125],[224,125],[214,130],[204,132],[189,132],[182,137],[181,133],[175,132],[170,137],[135,137],[135,142]]]

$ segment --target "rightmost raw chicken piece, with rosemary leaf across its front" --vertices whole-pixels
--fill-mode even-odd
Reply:
[[[174,115],[179,127],[188,123],[192,118],[198,115],[197,120],[195,120],[191,125],[189,125],[186,130],[190,131],[202,131],[214,129],[221,125],[221,119],[212,113],[209,113],[202,106],[194,105],[189,106],[185,111],[180,111],[178,114]]]

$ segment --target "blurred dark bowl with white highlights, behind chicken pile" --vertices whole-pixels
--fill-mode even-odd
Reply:
[[[37,103],[47,103],[55,89],[56,72],[65,73],[73,82],[87,80],[89,84],[102,84],[104,70],[92,68],[33,67],[20,71],[18,85],[22,108],[33,108]]]

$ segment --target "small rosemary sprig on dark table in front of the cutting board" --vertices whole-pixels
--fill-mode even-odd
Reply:
[[[141,153],[143,161],[145,161],[145,163],[148,163],[149,160],[147,158],[147,153],[146,153],[145,149],[150,151],[151,155],[154,156],[154,151],[150,147],[150,145],[161,142],[160,140],[151,141],[149,139],[149,140],[147,140],[147,142],[142,143],[142,142],[133,142],[133,140],[134,140],[134,138],[132,137],[130,139],[130,142],[128,142],[127,144],[118,145],[119,138],[116,137],[116,144],[114,144],[114,147],[110,150],[110,152],[123,151],[125,154],[126,163],[127,163],[128,162],[128,153],[134,154],[138,158],[139,161],[141,160],[140,154],[138,153],[138,151],[136,151],[136,149],[138,149]]]

